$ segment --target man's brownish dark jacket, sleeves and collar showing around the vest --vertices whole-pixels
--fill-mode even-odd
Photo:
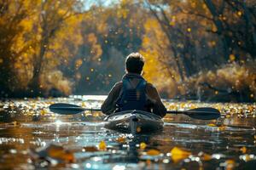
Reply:
[[[129,76],[141,77],[140,75],[131,73],[125,74],[124,77]],[[137,78],[133,78],[131,82],[134,83],[134,85],[136,86],[139,80]],[[119,99],[120,94],[122,93],[122,86],[123,82],[117,82],[110,90],[108,98],[102,104],[102,112],[104,114],[110,115],[116,110],[116,102]],[[152,104],[154,114],[159,115],[161,117],[166,116],[166,107],[162,103],[160,95],[158,94],[156,88],[154,88],[154,86],[149,82],[147,82],[146,84],[146,98],[148,100],[148,105]]]

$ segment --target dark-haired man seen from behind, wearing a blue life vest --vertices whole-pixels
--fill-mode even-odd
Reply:
[[[117,111],[139,110],[149,111],[161,117],[166,116],[156,88],[144,80],[144,59],[139,53],[131,53],[125,59],[126,74],[121,82],[117,82],[102,104],[102,112],[110,115]]]

